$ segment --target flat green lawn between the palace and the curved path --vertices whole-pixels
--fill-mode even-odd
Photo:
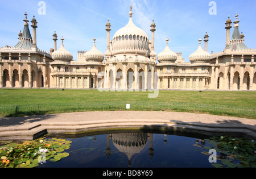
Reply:
[[[130,102],[133,104],[130,110],[186,111],[256,119],[255,91],[200,92],[160,90],[157,98],[148,98],[148,94],[153,93],[148,91],[100,92],[98,90],[67,89],[0,89],[0,115],[19,116],[71,113],[88,110],[126,110],[126,102]],[[164,106],[160,102],[168,104]],[[183,103],[189,103],[191,105],[186,106]],[[7,108],[6,106],[2,106],[1,108],[1,105],[8,106]],[[253,107],[254,109],[244,109],[244,107]]]

